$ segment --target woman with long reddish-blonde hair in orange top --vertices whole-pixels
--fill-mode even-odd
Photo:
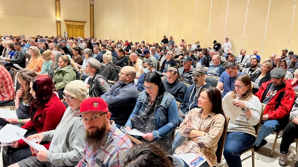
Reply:
[[[28,67],[26,69],[41,72],[41,67],[44,63],[44,59],[41,57],[38,47],[29,47],[31,59],[29,60]]]

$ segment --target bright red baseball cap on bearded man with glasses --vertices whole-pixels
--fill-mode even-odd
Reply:
[[[80,106],[80,111],[73,116],[79,117],[87,112],[109,112],[108,104],[100,97],[90,97],[83,100]]]

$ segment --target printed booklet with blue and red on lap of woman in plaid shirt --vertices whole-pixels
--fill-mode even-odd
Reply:
[[[183,160],[189,167],[199,167],[206,161],[204,157],[195,153],[175,154],[173,156]]]

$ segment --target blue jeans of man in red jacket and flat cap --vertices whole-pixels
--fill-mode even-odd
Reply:
[[[262,122],[260,127],[258,137],[256,142],[254,143],[256,146],[259,146],[261,141],[265,139],[265,137],[269,136],[274,130],[276,130],[280,126],[279,120],[265,120]]]

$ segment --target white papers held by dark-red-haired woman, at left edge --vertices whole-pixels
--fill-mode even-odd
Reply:
[[[27,132],[26,129],[20,128],[15,125],[7,124],[0,130],[0,142],[1,144],[8,144],[13,141],[20,140],[20,137],[17,135],[19,132],[20,135],[25,135]]]

